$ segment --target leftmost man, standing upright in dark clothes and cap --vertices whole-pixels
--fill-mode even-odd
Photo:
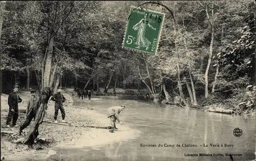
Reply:
[[[9,113],[6,125],[10,127],[11,121],[12,126],[18,127],[16,125],[18,120],[18,103],[22,102],[22,99],[18,96],[18,85],[16,84],[13,88],[13,92],[8,97]]]

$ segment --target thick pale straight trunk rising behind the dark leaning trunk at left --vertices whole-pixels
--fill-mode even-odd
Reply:
[[[46,56],[45,70],[44,70],[44,87],[49,87],[51,67],[52,67],[52,54],[53,54],[53,38],[49,43],[49,51]]]

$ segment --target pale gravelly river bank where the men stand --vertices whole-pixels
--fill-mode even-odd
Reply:
[[[72,89],[67,89],[63,92],[63,95],[67,99],[64,103],[66,110],[66,121],[71,125],[76,126],[109,126],[110,120],[106,118],[104,114],[98,113],[97,109],[93,107],[81,107],[73,106]],[[19,118],[17,125],[21,125],[25,121],[25,110],[27,100],[30,98],[28,91],[20,91],[20,98],[23,99],[22,103],[19,104]],[[15,133],[18,128],[6,128],[6,117],[8,114],[8,95],[1,95],[1,131],[11,131],[14,134],[1,133],[1,158],[2,160],[22,160],[33,156],[37,150],[49,149],[54,147],[93,147],[103,146],[112,142],[120,142],[124,140],[134,139],[139,136],[138,130],[129,131],[118,131],[110,133],[108,129],[98,129],[89,127],[75,127],[75,126],[63,126],[51,123],[43,122],[39,126],[38,141],[33,145],[33,149],[27,145],[15,144],[13,141],[22,135],[17,136]],[[48,103],[48,110],[44,121],[53,122],[54,116],[54,102]],[[61,113],[58,114],[58,122],[61,121]],[[33,121],[31,122],[31,124]],[[24,129],[26,134],[31,124]],[[120,129],[129,129],[127,126],[120,126]],[[49,157],[48,154],[41,156],[42,158]],[[31,158],[31,157],[30,157]]]

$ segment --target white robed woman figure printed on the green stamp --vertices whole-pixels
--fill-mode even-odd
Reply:
[[[149,26],[151,29],[156,31],[156,28],[153,28],[151,23],[154,23],[154,21],[150,18],[147,18],[147,14],[145,14],[144,18],[142,18],[136,25],[133,26],[133,29],[138,31],[137,39],[135,41],[135,44],[138,45],[138,47],[135,48],[140,49],[142,47],[148,50],[151,42],[145,37],[146,27]]]

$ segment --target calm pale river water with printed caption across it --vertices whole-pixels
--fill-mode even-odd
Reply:
[[[232,160],[226,153],[242,155],[233,155],[233,160],[255,159],[255,117],[159,106],[136,96],[93,96],[90,101],[75,99],[73,104],[102,113],[107,107],[123,104],[126,108],[120,119],[141,135],[97,149],[63,148],[59,150],[63,160]],[[154,124],[159,125],[149,126]],[[242,129],[240,137],[234,136],[235,128]],[[212,156],[204,156],[208,154]],[[51,156],[57,158],[57,154]]]

